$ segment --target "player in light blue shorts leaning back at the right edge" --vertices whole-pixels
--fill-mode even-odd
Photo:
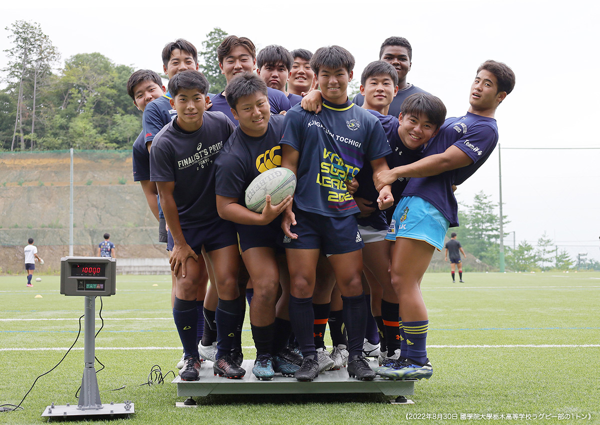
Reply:
[[[448,227],[458,226],[452,185],[460,185],[472,176],[496,147],[498,128],[494,114],[514,85],[511,68],[501,62],[484,62],[471,86],[466,115],[446,119],[439,134],[427,145],[424,158],[376,176],[376,187],[411,177],[386,236],[395,240],[392,284],[400,300],[407,359],[387,364],[378,371],[382,376],[428,379],[433,374],[427,358],[429,320],[421,279],[434,250],[442,250]]]

